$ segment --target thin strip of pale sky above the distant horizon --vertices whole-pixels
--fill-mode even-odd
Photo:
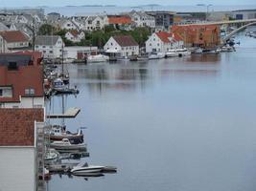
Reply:
[[[196,5],[199,3],[214,5],[256,5],[255,0],[0,0],[0,7],[35,7],[35,6],[67,6],[67,5],[122,5],[138,6],[147,4],[160,5]]]

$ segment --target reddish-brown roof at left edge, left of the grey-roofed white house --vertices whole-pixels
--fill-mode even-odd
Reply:
[[[0,32],[0,35],[8,42],[26,42],[29,41],[28,36],[20,31]]]

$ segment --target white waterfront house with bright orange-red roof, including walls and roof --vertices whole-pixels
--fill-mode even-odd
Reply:
[[[167,53],[169,50],[182,48],[184,42],[169,32],[154,32],[146,41],[146,53]]]

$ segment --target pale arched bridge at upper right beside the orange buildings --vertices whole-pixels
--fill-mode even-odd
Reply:
[[[217,21],[217,22],[198,22],[193,24],[181,24],[179,26],[193,26],[193,25],[238,25],[238,29],[230,32],[223,39],[221,39],[221,45],[225,44],[236,33],[243,31],[249,26],[256,25],[256,19],[244,19],[244,20],[231,20],[231,21]]]

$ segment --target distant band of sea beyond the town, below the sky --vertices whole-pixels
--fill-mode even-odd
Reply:
[[[245,5],[245,6],[218,6],[213,5],[209,8],[209,11],[234,11],[234,10],[246,10],[246,9],[256,9],[256,5]],[[74,16],[74,15],[90,15],[90,14],[116,14],[124,11],[206,11],[205,7],[197,6],[154,6],[154,7],[47,7],[45,12],[57,11],[63,15]]]

